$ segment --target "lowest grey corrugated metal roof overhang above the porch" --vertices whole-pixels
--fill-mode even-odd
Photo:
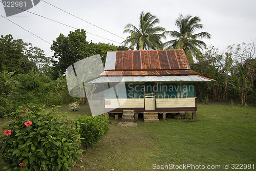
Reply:
[[[89,83],[107,83],[107,82],[198,82],[198,81],[215,81],[214,79],[205,78],[199,75],[169,75],[169,76],[111,76],[100,77]]]

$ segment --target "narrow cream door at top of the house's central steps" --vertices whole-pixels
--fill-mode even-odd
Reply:
[[[145,82],[144,105],[145,111],[154,111],[156,108],[154,82]]]

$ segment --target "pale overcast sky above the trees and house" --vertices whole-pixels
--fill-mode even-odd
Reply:
[[[151,12],[160,19],[159,26],[166,30],[177,30],[175,20],[179,14],[199,16],[204,28],[198,32],[207,31],[211,34],[211,39],[203,39],[207,45],[214,45],[223,51],[228,45],[248,42],[256,38],[256,1],[254,0],[45,0],[62,10],[68,11],[87,22],[115,33],[123,38],[123,28],[131,23],[138,26],[139,15],[142,11]],[[75,18],[59,9],[56,9],[45,2],[40,2],[35,7],[29,9],[30,12],[57,20],[58,22],[70,25],[74,28],[84,29],[89,33],[105,37],[106,40],[92,34],[87,34],[87,41],[104,42],[119,46],[117,42],[123,39],[94,27],[82,20]],[[0,3],[0,14],[6,17],[3,4]],[[22,12],[7,17],[12,22],[24,27],[35,35],[45,39],[52,44],[60,33],[68,35],[75,29],[54,23],[45,18]],[[0,16],[0,35],[11,34],[14,39],[21,38],[25,42],[31,42],[33,46],[45,51],[47,56],[52,56],[50,45],[42,41],[29,32],[12,24],[7,19]],[[167,37],[166,40],[172,38]]]

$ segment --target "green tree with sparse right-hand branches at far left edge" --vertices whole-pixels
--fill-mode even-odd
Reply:
[[[24,74],[32,68],[42,71],[42,67],[49,65],[49,57],[46,57],[40,48],[32,47],[32,44],[22,39],[13,39],[11,34],[1,35],[0,71],[6,68],[8,72],[15,71],[15,74]]]

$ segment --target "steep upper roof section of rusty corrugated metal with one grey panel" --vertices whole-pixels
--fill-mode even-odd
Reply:
[[[116,57],[115,57],[116,56]],[[190,66],[182,49],[109,51],[105,70],[189,70]]]

